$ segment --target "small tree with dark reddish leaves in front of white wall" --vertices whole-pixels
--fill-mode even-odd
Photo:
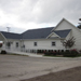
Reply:
[[[76,39],[72,37],[69,40],[63,40],[62,43],[66,49],[70,49],[75,45]]]

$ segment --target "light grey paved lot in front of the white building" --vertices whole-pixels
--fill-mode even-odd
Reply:
[[[81,66],[81,58],[0,55],[0,81],[21,81],[77,66]]]

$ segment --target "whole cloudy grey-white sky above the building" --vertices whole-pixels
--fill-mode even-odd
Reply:
[[[55,27],[63,17],[78,26],[81,0],[0,0],[1,31]]]

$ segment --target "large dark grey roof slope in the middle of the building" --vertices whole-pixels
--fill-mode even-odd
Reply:
[[[22,33],[23,39],[45,39],[54,27],[31,29]]]

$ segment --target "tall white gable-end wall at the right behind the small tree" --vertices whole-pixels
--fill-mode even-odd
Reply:
[[[72,29],[71,37],[76,38],[76,43],[72,49],[81,50],[81,31],[67,21],[63,21],[55,30]]]

